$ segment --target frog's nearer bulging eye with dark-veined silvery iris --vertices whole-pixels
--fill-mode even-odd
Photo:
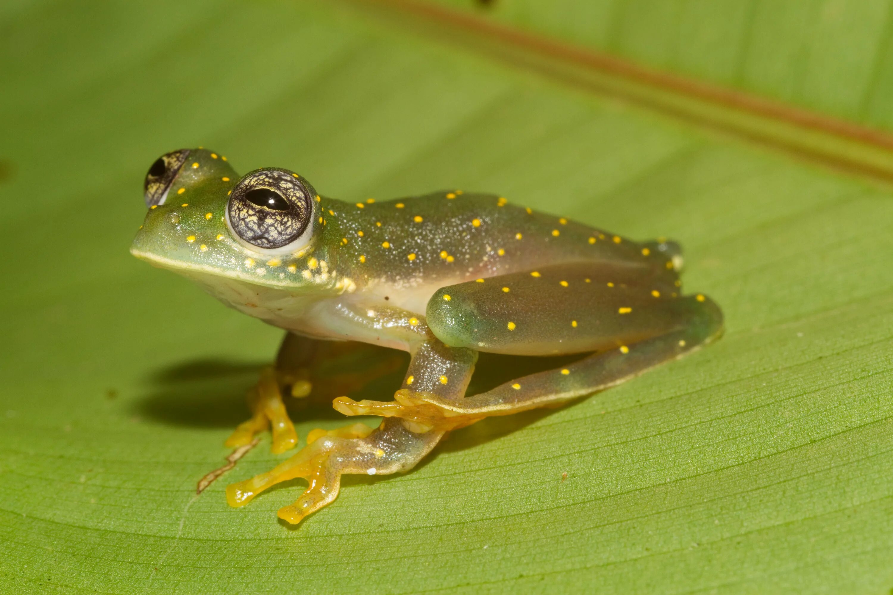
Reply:
[[[227,224],[248,247],[299,250],[313,232],[313,194],[285,169],[257,169],[232,189]]]

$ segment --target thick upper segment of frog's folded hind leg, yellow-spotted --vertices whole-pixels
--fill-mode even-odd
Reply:
[[[635,343],[686,324],[675,275],[577,262],[438,290],[428,325],[452,347],[513,355],[580,353]]]

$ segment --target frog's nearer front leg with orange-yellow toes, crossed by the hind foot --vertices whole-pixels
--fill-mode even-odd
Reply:
[[[477,352],[449,348],[430,334],[423,320],[403,310],[377,310],[354,324],[362,332],[380,331],[405,342],[412,354],[404,384],[419,387],[445,401],[458,401],[474,370]],[[313,430],[307,446],[271,471],[227,488],[231,506],[244,506],[258,493],[276,483],[304,478],[306,491],[296,502],[281,508],[280,518],[296,524],[338,497],[343,474],[388,475],[414,467],[446,434],[446,431],[411,418],[390,418],[377,429],[354,424],[337,430]]]

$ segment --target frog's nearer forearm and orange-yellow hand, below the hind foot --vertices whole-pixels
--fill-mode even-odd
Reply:
[[[279,516],[293,525],[338,497],[341,475],[388,475],[407,471],[424,458],[443,437],[443,432],[417,433],[403,420],[386,419],[378,429],[354,424],[337,430],[314,430],[307,446],[267,473],[227,487],[230,506],[246,505],[276,483],[296,477],[308,485],[301,497]]]

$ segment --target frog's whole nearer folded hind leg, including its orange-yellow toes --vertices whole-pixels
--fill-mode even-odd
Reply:
[[[342,398],[336,409],[451,429],[619,384],[721,334],[716,304],[702,294],[680,297],[675,278],[575,263],[445,287],[431,298],[428,325],[448,345],[518,355],[596,353],[461,400],[406,387],[396,403]]]

